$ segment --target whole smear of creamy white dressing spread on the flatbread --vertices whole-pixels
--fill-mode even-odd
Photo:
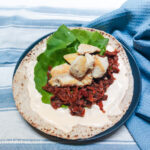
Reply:
[[[109,49],[113,48],[109,47]],[[61,129],[64,132],[70,132],[72,127],[76,125],[103,127],[106,124],[112,123],[109,120],[108,115],[118,115],[122,112],[119,105],[128,88],[128,78],[125,76],[127,70],[121,58],[119,58],[119,68],[121,68],[121,70],[118,74],[115,74],[117,80],[115,80],[108,88],[108,99],[103,102],[106,113],[103,113],[97,105],[93,105],[91,109],[86,108],[84,117],[72,116],[69,109],[59,108],[55,110],[51,105],[42,103],[41,95],[36,90],[34,83],[35,64],[36,61],[27,64],[30,107],[41,118],[54,125],[56,128]]]

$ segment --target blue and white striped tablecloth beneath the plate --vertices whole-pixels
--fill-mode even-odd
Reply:
[[[62,0],[46,5],[45,1],[41,0],[37,1],[36,6],[29,5],[31,3],[27,6],[27,1],[23,4],[18,0],[0,1],[0,150],[139,149],[125,126],[91,145],[73,146],[50,141],[23,120],[16,110],[12,96],[12,74],[23,51],[35,40],[56,30],[61,24],[87,24],[100,15],[120,7],[124,2],[105,1],[103,4],[100,0],[81,0],[80,4],[77,4],[75,0]]]

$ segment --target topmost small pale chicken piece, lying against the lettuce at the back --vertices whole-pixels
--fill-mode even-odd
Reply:
[[[96,46],[92,46],[89,44],[80,44],[77,52],[79,54],[95,53],[95,52],[100,52],[100,49]]]

